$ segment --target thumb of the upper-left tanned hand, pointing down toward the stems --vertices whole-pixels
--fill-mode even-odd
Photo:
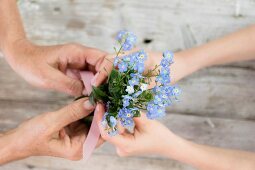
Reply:
[[[49,88],[70,94],[72,96],[79,96],[82,94],[83,83],[77,78],[71,78],[62,73],[59,70],[56,70],[52,67],[49,67],[50,74]]]

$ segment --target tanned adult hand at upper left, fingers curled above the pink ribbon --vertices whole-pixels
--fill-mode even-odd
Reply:
[[[78,96],[84,87],[75,70],[98,72],[106,53],[79,44],[36,46],[20,40],[5,55],[12,68],[29,83]],[[74,71],[68,74],[69,69]]]

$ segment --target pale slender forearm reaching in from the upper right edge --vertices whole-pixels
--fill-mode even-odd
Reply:
[[[197,70],[216,64],[255,59],[255,26],[229,34],[207,44],[176,53]],[[192,70],[192,71],[193,71]]]

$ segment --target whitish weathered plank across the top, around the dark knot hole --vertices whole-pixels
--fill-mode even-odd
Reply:
[[[189,47],[180,28],[194,34],[195,45],[253,24],[253,6],[248,0],[41,0],[24,2],[21,11],[29,36],[39,43],[78,41],[112,51],[114,34],[124,27],[138,35],[139,47],[162,51]],[[145,38],[154,41],[143,44]]]

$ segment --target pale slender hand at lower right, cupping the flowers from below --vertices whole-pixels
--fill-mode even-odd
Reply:
[[[122,132],[119,135],[109,136],[101,125],[105,113],[104,106],[98,104],[95,112],[102,138],[115,145],[119,156],[174,153],[176,147],[173,144],[179,141],[179,138],[158,121],[149,120],[142,114],[141,117],[134,119],[133,134],[120,130]]]

